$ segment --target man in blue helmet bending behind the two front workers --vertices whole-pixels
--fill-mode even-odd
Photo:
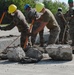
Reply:
[[[34,20],[34,24],[33,24],[33,28],[32,28],[32,32],[34,32],[40,25],[40,22],[36,21],[36,18],[39,17],[39,13],[36,12],[35,8],[31,8],[31,6],[29,4],[26,4],[24,6],[24,9],[25,9],[25,13],[26,13],[25,15],[26,15],[27,22],[28,23],[32,23],[32,20]],[[40,35],[40,46],[43,46],[43,42],[44,42],[43,31],[44,31],[44,29],[42,29],[39,32],[39,35]],[[35,44],[36,36],[37,36],[37,34],[33,34],[31,36],[32,45]]]

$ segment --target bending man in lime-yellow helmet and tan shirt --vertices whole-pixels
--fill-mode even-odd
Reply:
[[[50,36],[49,36],[48,44],[54,44],[57,41],[59,33],[60,33],[60,27],[54,15],[51,13],[50,10],[44,7],[43,3],[37,3],[36,10],[37,12],[40,12],[42,15],[38,20],[36,20],[40,22],[39,27],[36,28],[36,30],[32,32],[31,35],[37,34],[42,29],[44,29],[45,26],[47,26],[47,28],[50,29]]]

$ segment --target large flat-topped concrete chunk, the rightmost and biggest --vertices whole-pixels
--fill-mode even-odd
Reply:
[[[46,51],[54,60],[72,60],[72,48],[70,45],[48,45]]]

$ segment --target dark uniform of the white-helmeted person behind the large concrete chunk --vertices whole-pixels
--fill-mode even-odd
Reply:
[[[58,39],[58,43],[68,43],[68,34],[69,34],[69,28],[67,26],[66,28],[66,32],[65,32],[65,36],[64,36],[64,41],[62,41],[63,39],[63,33],[64,33],[64,30],[65,30],[65,25],[66,25],[66,22],[65,22],[65,18],[63,19],[64,15],[62,12],[57,12],[56,15],[55,15],[55,18],[60,26],[60,29],[61,29],[61,32],[60,32],[60,35],[59,35],[59,39]]]

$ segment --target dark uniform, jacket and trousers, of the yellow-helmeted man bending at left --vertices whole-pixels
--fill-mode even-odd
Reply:
[[[10,25],[1,27],[1,30],[11,30],[15,26],[18,28],[18,31],[21,32],[20,43],[21,47],[23,48],[26,36],[29,33],[29,27],[28,23],[26,22],[25,16],[20,10],[16,11],[15,15],[13,16],[13,21],[10,23]]]

